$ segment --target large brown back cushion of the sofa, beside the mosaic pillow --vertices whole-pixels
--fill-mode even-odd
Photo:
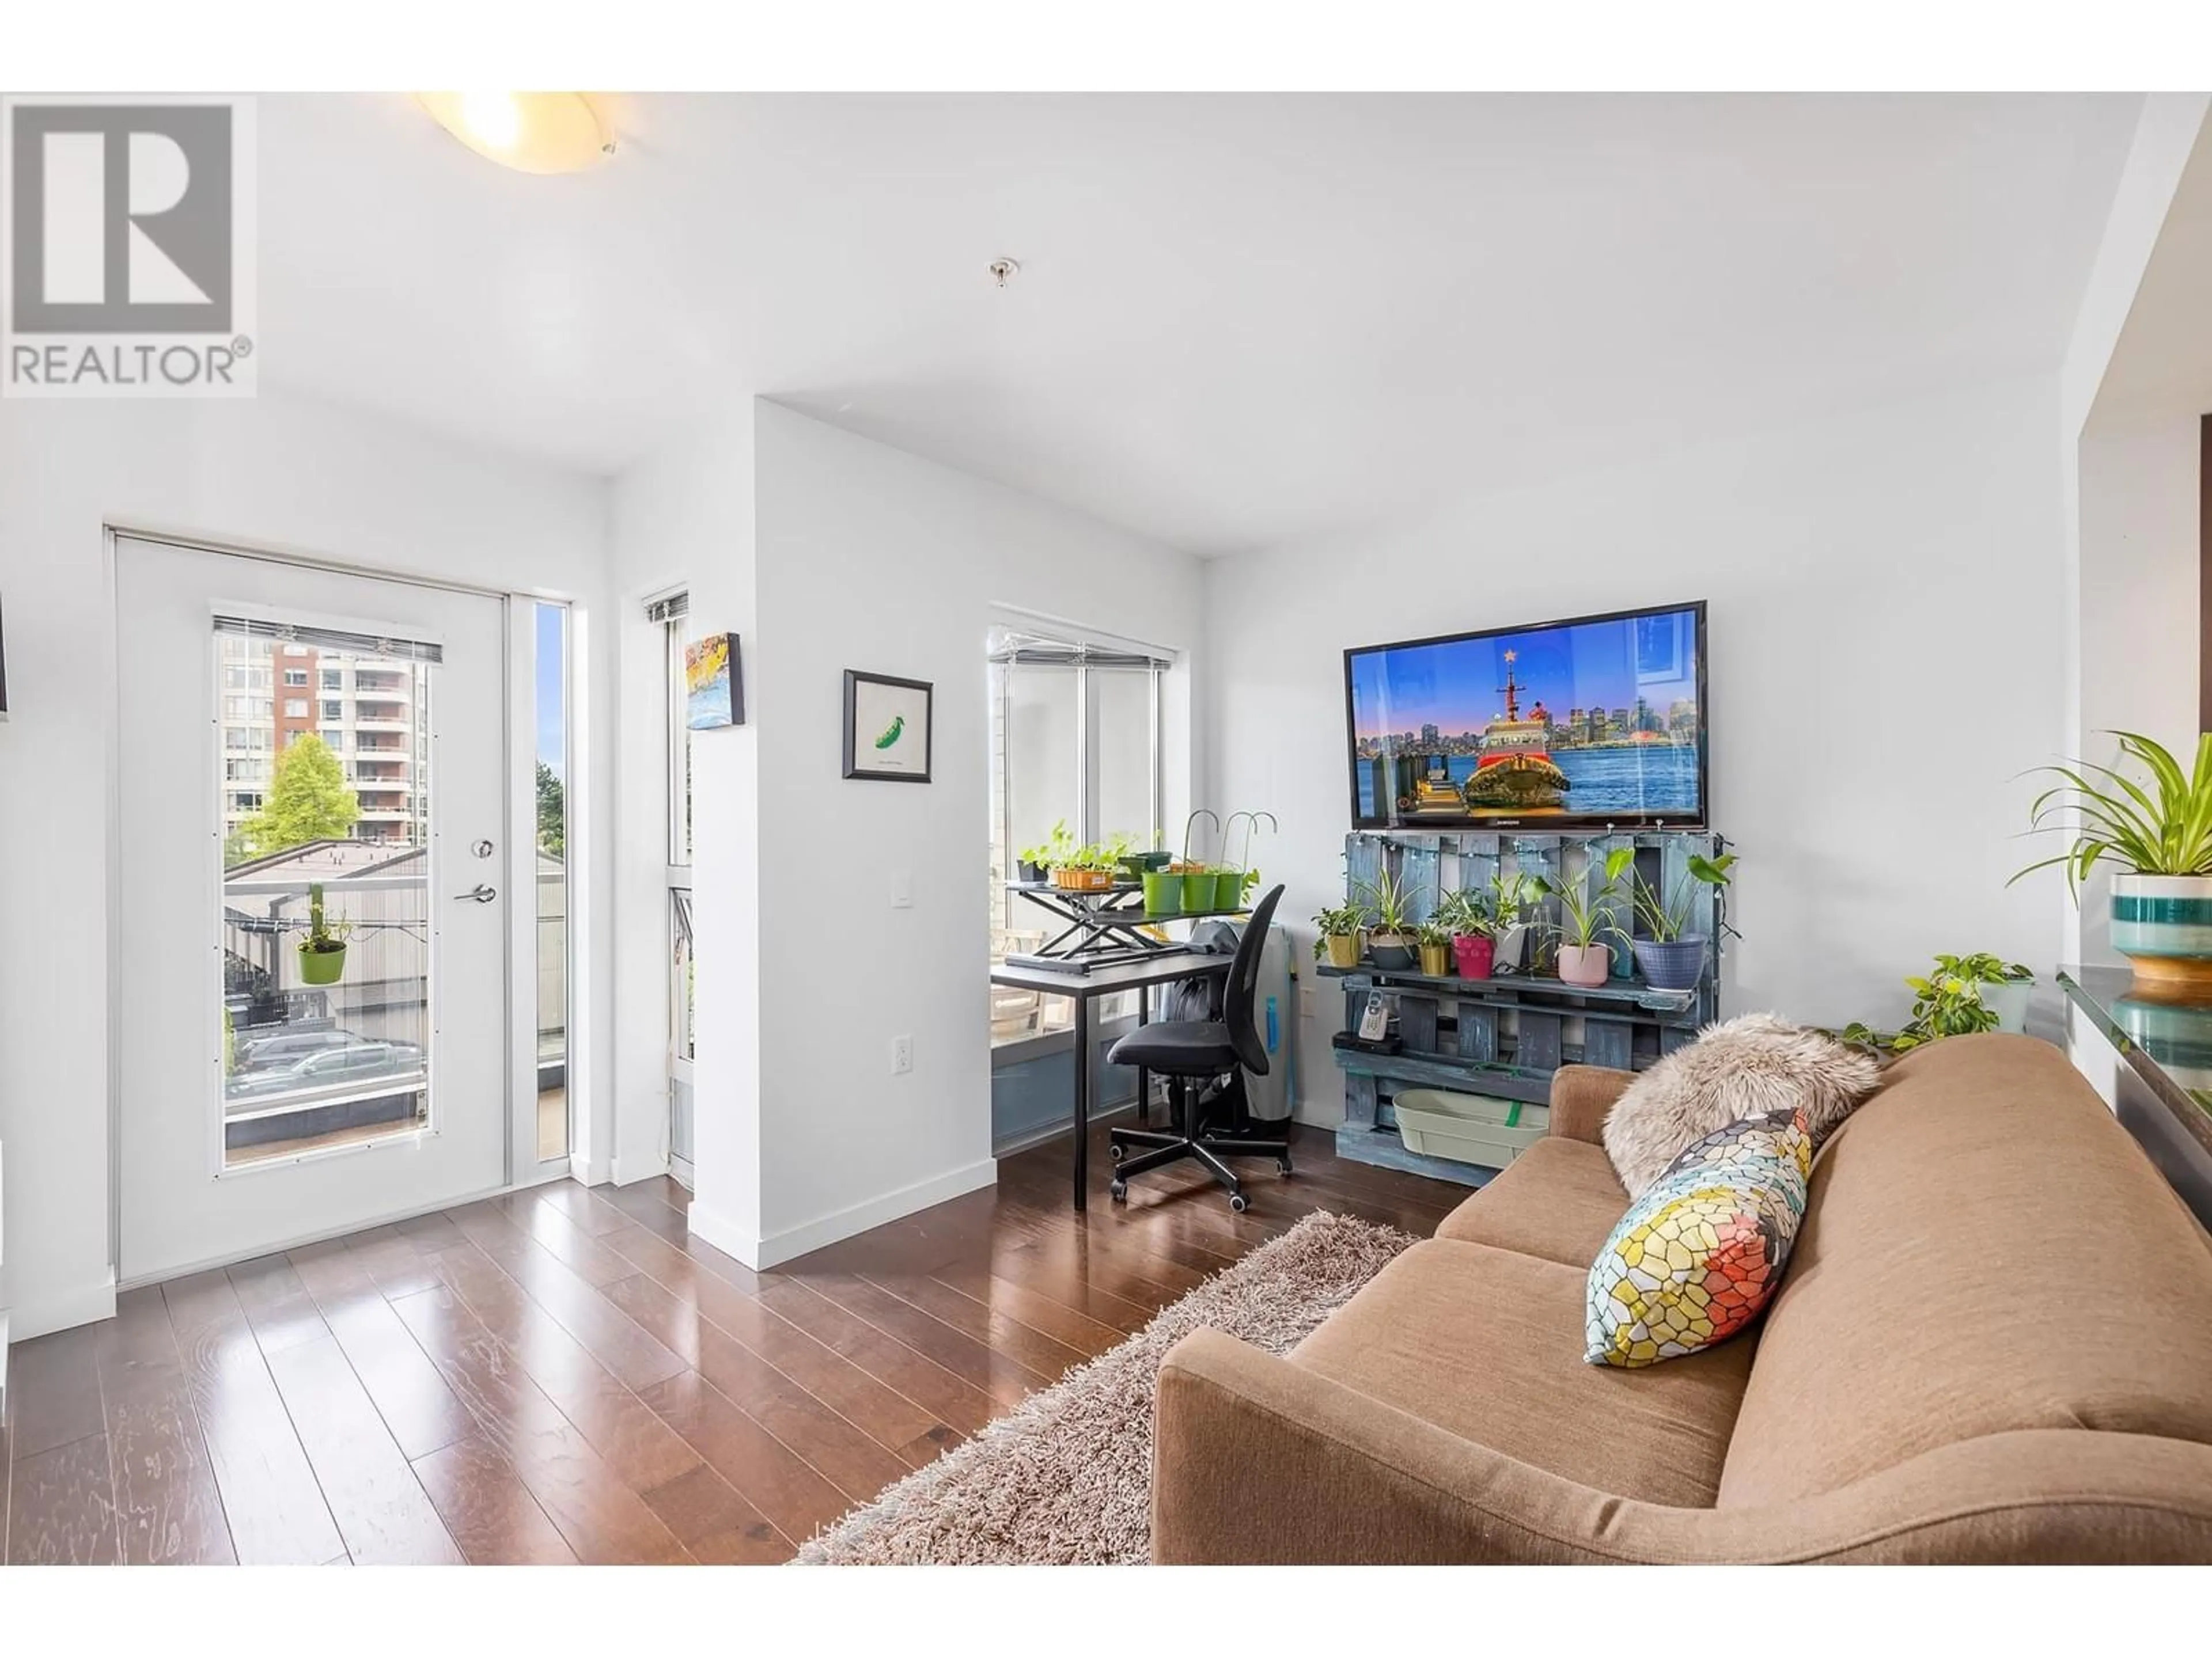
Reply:
[[[1949,1037],[1814,1163],[1721,1505],[2033,1428],[2212,1444],[2212,1256],[2057,1048]]]

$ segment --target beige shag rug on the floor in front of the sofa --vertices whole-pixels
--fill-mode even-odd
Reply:
[[[1418,1242],[1396,1227],[1310,1214],[1068,1371],[803,1550],[799,1565],[1144,1565],[1152,1536],[1152,1386],[1208,1324],[1287,1353]]]

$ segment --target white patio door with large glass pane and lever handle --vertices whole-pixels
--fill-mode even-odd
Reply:
[[[119,1273],[509,1178],[507,601],[115,539]]]

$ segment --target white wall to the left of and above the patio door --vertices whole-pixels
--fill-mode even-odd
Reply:
[[[0,402],[0,1141],[18,1340],[111,1311],[108,718],[102,524],[604,604],[606,489],[374,418],[241,402]],[[597,657],[593,657],[597,663]],[[604,665],[588,670],[604,672]],[[611,696],[586,688],[604,716]],[[584,765],[591,765],[591,736]],[[606,811],[608,780],[584,780]],[[608,862],[584,873],[591,884]],[[599,889],[604,891],[604,886]],[[128,917],[124,917],[128,922]],[[604,937],[604,931],[602,931]],[[606,982],[604,964],[591,964]],[[128,1021],[124,1021],[128,1035]],[[591,1083],[606,1094],[602,1052]]]

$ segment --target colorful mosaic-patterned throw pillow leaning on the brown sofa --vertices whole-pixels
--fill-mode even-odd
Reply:
[[[1750,1324],[1781,1287],[1809,1172],[1803,1110],[1745,1116],[1677,1156],[1597,1251],[1584,1360],[1637,1368]]]

